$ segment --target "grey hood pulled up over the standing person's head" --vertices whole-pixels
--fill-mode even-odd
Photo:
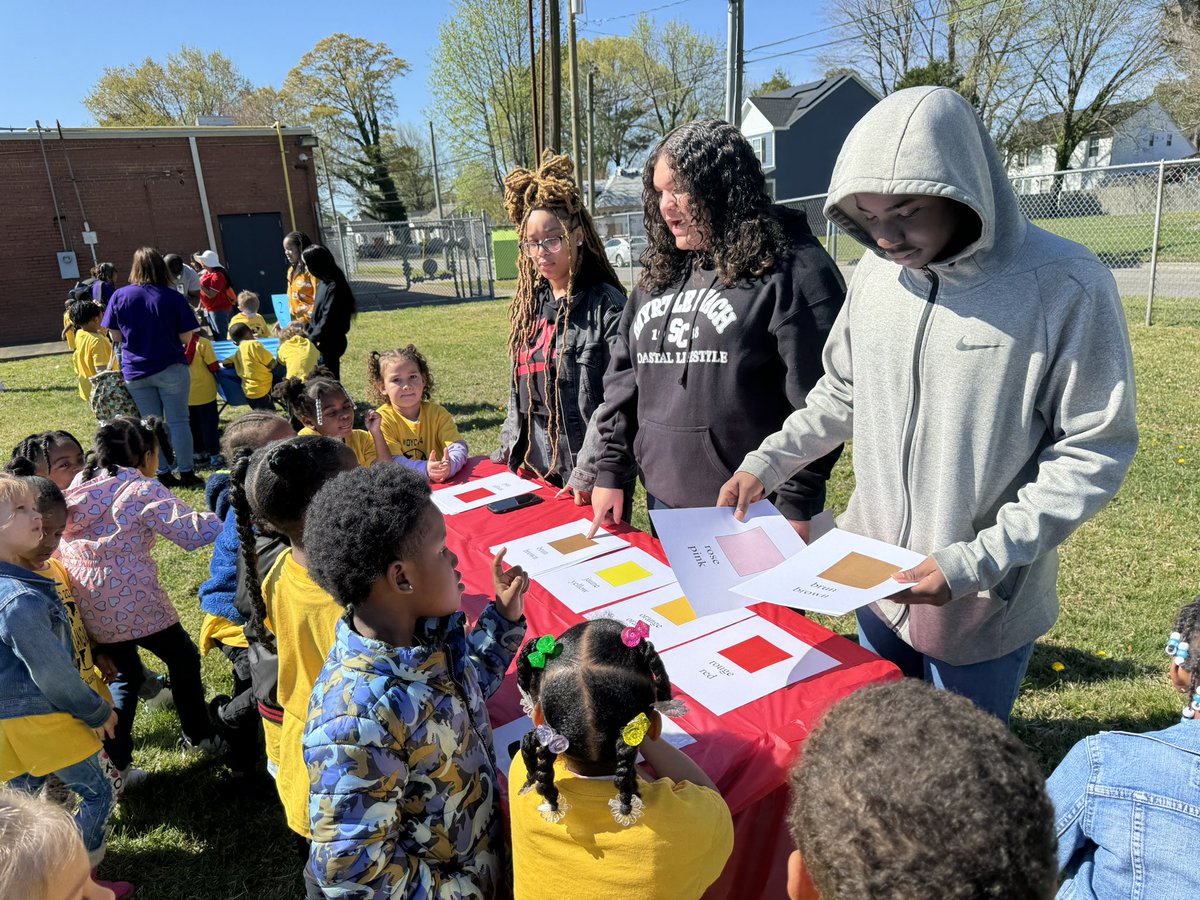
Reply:
[[[974,257],[985,268],[986,259],[1007,258],[1024,239],[1026,220],[991,137],[967,100],[949,88],[888,95],[859,119],[838,155],[824,214],[883,256],[844,211],[857,193],[944,197],[974,212],[978,240],[938,265]]]

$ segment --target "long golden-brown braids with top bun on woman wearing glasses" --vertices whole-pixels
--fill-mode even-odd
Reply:
[[[562,402],[558,395],[558,382],[562,368],[554,366],[554,383],[550,383],[548,356],[554,346],[562,346],[566,335],[566,322],[571,307],[571,299],[575,295],[575,276],[584,265],[596,270],[599,280],[617,287],[625,293],[620,278],[608,263],[605,256],[604,244],[596,233],[595,223],[583,205],[580,188],[575,184],[574,166],[569,156],[554,156],[548,150],[542,154],[541,163],[533,169],[514,169],[504,179],[504,210],[509,218],[517,226],[520,240],[526,238],[526,227],[529,214],[534,210],[545,210],[552,214],[563,229],[563,247],[570,254],[571,271],[566,282],[566,299],[554,323],[554,342],[546,348],[546,368],[542,370],[545,382],[544,394],[550,408],[550,419],[546,425],[548,432],[551,461],[550,472],[554,472],[558,463],[558,431],[562,421]],[[583,246],[576,247],[572,240],[575,228],[583,232]],[[539,302],[538,292],[544,280],[538,274],[538,265],[532,257],[520,253],[517,256],[517,289],[512,295],[512,306],[509,307],[509,359],[512,361],[512,388],[516,389],[516,362],[522,347],[532,347],[538,337]],[[532,432],[533,412],[527,416],[526,427]],[[539,472],[529,462],[529,442],[526,445],[523,464],[545,478],[550,473]]]

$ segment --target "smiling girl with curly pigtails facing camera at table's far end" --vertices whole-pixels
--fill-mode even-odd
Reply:
[[[391,458],[434,484],[449,481],[467,464],[467,442],[450,413],[433,396],[433,373],[416,347],[367,356],[367,401],[378,404]]]

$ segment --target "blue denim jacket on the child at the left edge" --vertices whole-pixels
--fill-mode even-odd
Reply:
[[[68,713],[98,728],[109,712],[79,677],[54,582],[0,562],[0,719]]]

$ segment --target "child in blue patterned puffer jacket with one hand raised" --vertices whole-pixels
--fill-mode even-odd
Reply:
[[[304,736],[307,895],[505,893],[485,702],[524,636],[528,578],[497,554],[496,601],[468,632],[445,518],[400,466],[326,484],[304,539],[313,577],[347,607]]]

